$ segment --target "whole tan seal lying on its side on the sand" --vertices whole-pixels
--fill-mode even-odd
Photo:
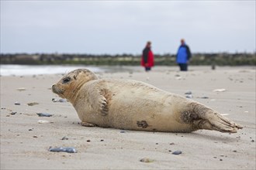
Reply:
[[[235,133],[242,128],[203,104],[136,80],[99,79],[90,70],[67,73],[52,91],[74,106],[83,126],[138,131]]]

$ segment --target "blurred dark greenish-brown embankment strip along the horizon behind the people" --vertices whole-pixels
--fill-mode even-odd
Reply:
[[[17,53],[0,54],[1,64],[26,65],[56,65],[80,64],[94,66],[138,66],[140,55],[91,55],[91,54],[58,54],[58,53]],[[157,66],[174,66],[174,54],[155,54],[154,63]],[[193,53],[190,65],[218,65],[218,66],[255,66],[255,53]]]

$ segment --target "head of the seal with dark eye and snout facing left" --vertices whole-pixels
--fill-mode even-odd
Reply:
[[[52,86],[52,91],[57,93],[59,97],[71,100],[84,83],[95,79],[98,79],[98,77],[90,70],[73,70],[63,76],[59,82],[54,84]]]

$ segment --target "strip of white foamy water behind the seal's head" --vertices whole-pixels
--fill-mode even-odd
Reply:
[[[0,65],[0,75],[1,76],[29,76],[29,75],[41,75],[41,74],[64,74],[75,69],[88,69],[94,73],[103,72],[124,72],[130,70],[136,70],[136,68],[131,69],[126,66],[84,66],[84,65],[13,65],[8,64]]]

